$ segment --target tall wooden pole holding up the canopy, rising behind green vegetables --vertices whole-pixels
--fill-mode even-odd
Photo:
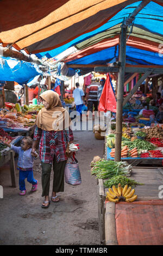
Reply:
[[[122,25],[120,36],[120,58],[121,63],[118,73],[117,84],[117,106],[116,106],[116,139],[115,139],[115,159],[121,161],[121,142],[122,142],[122,108],[123,108],[123,90],[124,90],[124,73],[126,65],[126,31],[127,28]]]

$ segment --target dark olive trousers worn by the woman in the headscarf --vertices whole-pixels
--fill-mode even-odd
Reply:
[[[64,191],[64,172],[65,172],[66,160],[57,162],[54,156],[53,160],[53,192]],[[42,167],[42,197],[49,196],[50,180],[52,164],[41,162]]]

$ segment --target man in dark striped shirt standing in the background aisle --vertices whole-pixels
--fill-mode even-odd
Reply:
[[[86,103],[90,112],[93,112],[93,106],[95,111],[98,111],[98,87],[99,83],[92,78],[90,86],[86,88]]]

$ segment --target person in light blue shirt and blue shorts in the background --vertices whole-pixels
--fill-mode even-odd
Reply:
[[[73,91],[74,103],[76,105],[76,111],[79,112],[80,120],[82,119],[82,107],[84,101],[84,91],[79,88],[80,84],[76,83],[76,89]]]

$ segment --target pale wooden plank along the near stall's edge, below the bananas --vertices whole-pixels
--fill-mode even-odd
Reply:
[[[118,245],[115,223],[115,203],[106,203],[105,211],[105,245]]]

